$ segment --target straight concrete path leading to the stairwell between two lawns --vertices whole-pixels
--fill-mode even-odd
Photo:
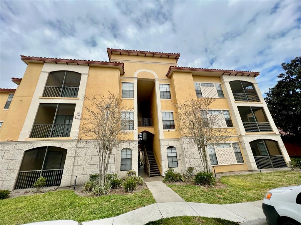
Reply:
[[[167,187],[162,181],[145,182],[156,202],[185,202],[182,197]]]

